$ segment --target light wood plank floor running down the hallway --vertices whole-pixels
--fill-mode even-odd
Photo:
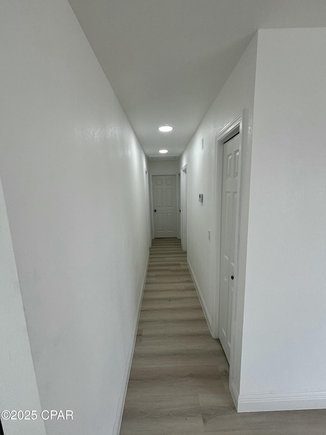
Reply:
[[[120,435],[326,435],[325,410],[237,414],[228,381],[186,252],[153,240]]]

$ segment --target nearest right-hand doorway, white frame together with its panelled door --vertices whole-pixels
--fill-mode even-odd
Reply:
[[[233,378],[234,313],[237,303],[242,113],[215,138],[215,303],[213,333],[219,338]]]

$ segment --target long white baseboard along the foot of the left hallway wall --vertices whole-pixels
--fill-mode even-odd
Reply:
[[[141,314],[141,306],[142,306],[143,294],[144,294],[145,284],[146,284],[148,262],[149,262],[149,252],[148,252],[148,257],[147,257],[146,267],[145,267],[145,272],[144,272],[142,291],[141,291],[141,294],[139,297],[138,306],[137,306],[137,313],[136,313],[135,322],[133,325],[133,337],[132,337],[132,340],[130,342],[127,363],[126,363],[126,367],[125,367],[125,371],[124,371],[124,375],[123,375],[122,388],[121,388],[121,393],[120,393],[120,398],[119,398],[119,405],[118,405],[118,410],[117,410],[117,414],[116,414],[116,419],[115,419],[115,423],[114,423],[113,435],[119,435],[119,433],[120,433],[124,402],[126,400],[128,381],[129,381],[129,375],[130,375],[130,369],[131,369],[131,363],[132,363],[132,356],[133,356],[133,351],[134,351],[134,345],[135,345],[136,338],[137,338],[138,322],[139,322],[139,317]]]

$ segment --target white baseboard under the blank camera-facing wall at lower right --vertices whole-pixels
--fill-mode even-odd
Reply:
[[[326,408],[326,391],[315,393],[240,394],[237,412],[317,410]]]

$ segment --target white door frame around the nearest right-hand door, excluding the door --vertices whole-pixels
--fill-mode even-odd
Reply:
[[[234,265],[234,297],[232,302],[232,322],[231,322],[231,355],[230,355],[230,380],[233,378],[233,353],[235,350],[234,340],[234,321],[237,308],[238,295],[238,249],[239,249],[239,216],[241,207],[241,162],[242,162],[242,144],[243,140],[243,112],[239,113],[224,129],[215,137],[215,174],[214,174],[214,222],[215,222],[215,243],[213,244],[213,266],[215,265],[215,273],[213,273],[212,288],[214,291],[214,311],[212,318],[213,337],[219,338],[219,314],[220,314],[220,274],[221,274],[221,231],[222,231],[222,189],[223,189],[223,152],[224,143],[239,131],[240,147],[239,147],[239,172],[237,186],[237,201],[236,201],[236,217],[235,217],[235,265]]]

